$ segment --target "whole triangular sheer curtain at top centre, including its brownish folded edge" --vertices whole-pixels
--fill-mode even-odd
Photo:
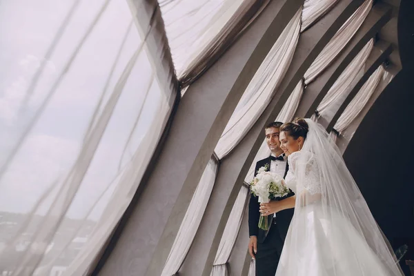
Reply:
[[[184,85],[204,72],[269,1],[159,1],[177,76]]]

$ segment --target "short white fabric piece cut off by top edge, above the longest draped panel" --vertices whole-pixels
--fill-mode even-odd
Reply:
[[[304,32],[317,19],[321,18],[328,12],[338,0],[305,0],[304,9],[302,10],[302,27],[300,32]]]

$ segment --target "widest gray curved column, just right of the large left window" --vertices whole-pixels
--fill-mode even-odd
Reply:
[[[243,91],[302,1],[271,1],[181,99],[157,163],[135,195],[101,275],[160,275],[213,150]],[[194,274],[193,274],[194,275]]]

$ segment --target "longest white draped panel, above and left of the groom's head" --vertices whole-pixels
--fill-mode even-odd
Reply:
[[[282,81],[299,39],[301,11],[302,8],[290,20],[246,88],[215,148],[219,159],[225,157],[255,124]]]

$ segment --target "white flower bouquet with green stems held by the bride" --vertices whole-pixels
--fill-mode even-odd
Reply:
[[[267,166],[259,168],[255,179],[250,182],[250,193],[259,197],[259,203],[268,203],[272,197],[284,197],[289,193],[289,188],[285,186],[283,177],[266,170],[268,170]],[[267,216],[260,216],[259,228],[269,229]]]

